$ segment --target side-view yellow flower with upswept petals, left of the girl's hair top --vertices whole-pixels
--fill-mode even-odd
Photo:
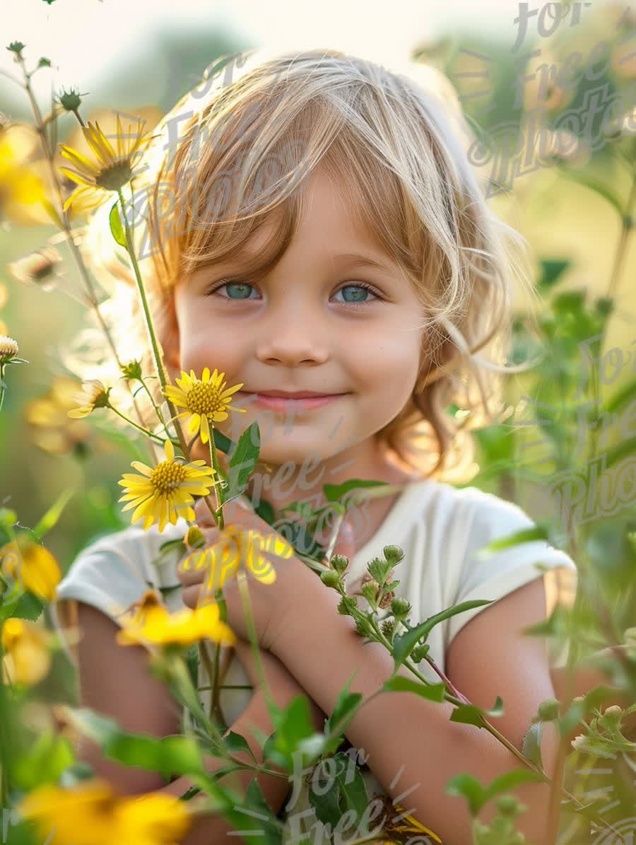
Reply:
[[[107,196],[104,192],[117,191],[134,177],[135,166],[139,163],[144,147],[153,139],[153,135],[142,133],[145,121],[137,118],[137,126],[124,134],[122,121],[117,115],[117,149],[113,149],[110,141],[100,128],[99,123],[89,121],[87,127],[82,128],[84,139],[95,154],[96,161],[90,161],[78,150],[72,150],[66,144],[60,144],[61,155],[73,164],[75,169],[60,167],[59,170],[74,183],[79,184],[65,201],[64,210],[70,204],[78,201],[83,210],[96,208],[103,203]]]

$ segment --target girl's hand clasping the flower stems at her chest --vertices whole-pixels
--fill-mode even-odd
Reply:
[[[250,607],[252,609],[253,621],[260,646],[272,650],[275,642],[285,630],[287,620],[293,615],[293,598],[300,592],[307,595],[312,590],[323,590],[326,587],[312,570],[295,554],[289,557],[281,557],[274,552],[282,552],[286,549],[289,553],[291,546],[284,537],[275,531],[272,526],[262,520],[251,506],[241,499],[233,499],[223,507],[225,518],[225,530],[221,531],[215,526],[214,519],[209,513],[204,499],[200,499],[195,505],[194,512],[197,515],[197,524],[204,533],[206,546],[212,546],[217,542],[225,542],[228,553],[226,559],[236,561],[236,532],[241,534],[247,529],[258,532],[264,540],[260,543],[260,554],[262,563],[271,564],[275,570],[275,581],[267,584],[258,581],[257,575],[247,570],[242,562],[238,568],[237,575],[242,577],[242,590],[247,587],[249,593]],[[242,534],[242,537],[246,537]],[[278,547],[278,548],[277,548]],[[201,549],[198,550],[199,552]],[[353,542],[351,538],[351,526],[343,522],[340,527],[339,542],[335,551],[347,554],[351,559],[353,556]],[[220,557],[220,555],[219,555]],[[204,559],[207,561],[208,559]],[[235,564],[236,565],[236,564]],[[182,600],[190,608],[204,606],[205,603],[214,601],[211,593],[211,583],[220,582],[222,569],[215,567],[220,572],[213,573],[208,565],[198,566],[196,569],[184,570],[182,564],[177,567],[177,575],[182,582]],[[264,567],[260,567],[261,570]],[[226,601],[227,624],[235,631],[236,635],[243,640],[249,641],[247,619],[243,608],[242,591],[236,575],[227,576],[222,581],[223,597]]]

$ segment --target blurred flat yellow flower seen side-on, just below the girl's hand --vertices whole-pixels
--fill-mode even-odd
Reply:
[[[122,629],[117,631],[120,646],[191,646],[194,642],[209,638],[226,646],[236,643],[236,635],[225,622],[220,621],[216,603],[192,610],[182,608],[169,613],[154,591],[146,591],[144,597],[119,617]]]

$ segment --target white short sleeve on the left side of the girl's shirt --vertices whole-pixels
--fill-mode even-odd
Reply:
[[[49,605],[52,623],[68,659],[77,668],[77,637],[80,635],[77,601],[101,610],[119,624],[117,616],[144,595],[160,586],[153,567],[146,562],[143,529],[126,528],[90,543],[73,560],[57,585]]]

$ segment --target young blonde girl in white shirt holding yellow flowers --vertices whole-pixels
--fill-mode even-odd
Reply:
[[[352,478],[394,486],[353,508],[340,532],[336,550],[350,559],[349,591],[359,590],[367,563],[396,544],[405,559],[395,568],[395,594],[410,602],[413,624],[459,602],[491,600],[433,628],[429,656],[476,705],[490,709],[502,696],[503,716],[494,722],[520,749],[540,702],[555,695],[555,655],[545,640],[522,633],[552,612],[536,564],[572,576],[576,567],[545,542],[478,556],[481,546],[532,521],[515,504],[448,482],[470,479],[466,421],[483,425],[497,409],[489,403],[509,341],[515,266],[505,237],[520,240],[493,215],[471,170],[470,131],[452,86],[421,65],[400,74],[329,50],[262,52],[206,74],[155,134],[132,199],[172,382],[216,368],[228,386],[242,384],[233,398],[245,412],[215,426],[236,439],[259,423],[260,461],[247,490],[253,508],[266,499],[281,516],[294,500],[324,504],[323,485]],[[143,357],[150,373],[137,292],[108,232],[108,211],[92,219],[85,252],[112,292],[102,310],[120,357]],[[104,369],[91,375],[106,379]],[[119,375],[114,370],[109,383]],[[211,389],[203,382],[195,389],[200,412],[210,412]],[[301,401],[303,394],[313,401]],[[462,426],[448,413],[451,402],[465,411]],[[192,454],[209,461],[201,439]],[[206,510],[198,506],[197,515],[206,525]],[[236,501],[226,510],[231,522],[267,527]],[[179,732],[180,708],[149,674],[142,647],[115,644],[116,608],[139,601],[149,586],[165,590],[171,610],[196,606],[203,575],[184,574],[174,554],[153,563],[160,544],[187,527],[180,519],[163,532],[130,526],[101,537],[73,562],[53,606],[61,632],[69,624],[82,630],[68,651],[82,703],[159,736]],[[292,563],[280,567],[275,585],[251,582],[250,591],[275,700],[282,706],[305,692],[321,730],[354,673],[350,691],[366,698],[389,678],[393,661],[377,644],[364,646],[351,618],[337,612],[336,593]],[[223,690],[220,705],[259,754],[251,726],[273,728],[232,595],[230,587],[229,623],[241,639],[225,684],[258,689]],[[427,661],[418,668],[439,681]],[[209,683],[202,664],[199,685]],[[209,690],[203,701],[208,708]],[[446,793],[448,780],[466,771],[487,784],[519,761],[486,731],[450,722],[453,710],[384,693],[361,708],[347,739],[366,762],[369,796],[407,808],[434,831],[431,841],[459,843],[471,841],[471,819],[465,799]],[[549,774],[557,749],[551,728],[541,746]],[[83,754],[129,793],[179,795],[189,785],[102,760],[89,745]],[[259,782],[271,806],[285,811],[296,841],[302,826],[316,830],[305,784],[284,805],[289,783]],[[528,808],[518,826],[531,842],[541,841],[548,793],[545,784],[514,790]],[[489,804],[479,818],[494,813]],[[231,830],[218,818],[206,822],[188,842]]]

